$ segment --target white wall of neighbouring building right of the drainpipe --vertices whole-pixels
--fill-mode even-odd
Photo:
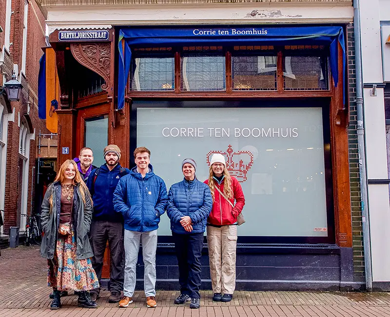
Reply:
[[[382,45],[380,19],[390,12],[388,0],[361,0],[361,46],[363,83],[381,83]],[[388,7],[388,8],[385,8]],[[368,179],[387,179],[387,150],[383,88],[377,96],[364,89],[364,120]],[[370,184],[368,188],[373,282],[390,281],[389,185]]]

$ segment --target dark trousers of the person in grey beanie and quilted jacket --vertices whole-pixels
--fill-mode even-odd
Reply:
[[[179,265],[180,294],[187,294],[191,298],[200,298],[200,273],[202,266],[203,233],[181,235],[172,233],[175,240],[175,251]]]

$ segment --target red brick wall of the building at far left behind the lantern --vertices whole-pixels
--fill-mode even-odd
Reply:
[[[5,26],[5,3],[0,0],[0,25]],[[27,20],[27,54],[26,71],[21,74],[22,45],[23,45],[23,19],[25,0],[12,0],[11,35],[9,54],[4,54],[4,63],[1,66],[2,72],[6,73],[7,80],[11,79],[14,64],[18,64],[19,77],[23,85],[20,101],[11,102],[15,109],[14,121],[8,122],[7,136],[7,161],[5,174],[5,202],[4,202],[4,230],[8,233],[10,226],[19,225],[18,209],[18,165],[19,165],[19,122],[26,121],[29,126],[30,152],[28,159],[28,188],[27,188],[27,214],[34,210],[35,195],[35,174],[36,174],[36,147],[39,131],[46,134],[46,122],[38,118],[38,73],[39,58],[43,52],[41,47],[45,46],[45,19],[35,1],[29,1]],[[1,47],[4,43],[4,32],[0,34]],[[20,169],[22,166],[19,167]]]

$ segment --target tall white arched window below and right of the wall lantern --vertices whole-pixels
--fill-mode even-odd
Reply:
[[[27,220],[28,165],[30,155],[30,133],[27,123],[21,121],[19,128],[19,165],[18,165],[18,214],[20,231],[25,230]]]

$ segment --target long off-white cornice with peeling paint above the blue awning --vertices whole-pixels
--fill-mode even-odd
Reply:
[[[109,28],[112,25],[336,23],[350,22],[351,3],[223,3],[45,6],[49,33],[57,28]]]

